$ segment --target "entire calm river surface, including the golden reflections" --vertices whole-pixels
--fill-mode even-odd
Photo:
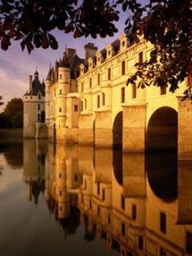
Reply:
[[[1,143],[0,255],[192,255],[192,164]]]

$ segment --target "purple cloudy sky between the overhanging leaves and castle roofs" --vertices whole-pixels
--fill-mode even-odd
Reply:
[[[145,1],[145,0],[142,0]],[[107,43],[113,42],[123,33],[124,21],[127,13],[121,14],[121,18],[117,23],[118,33],[114,38],[78,38],[74,39],[73,34],[64,34],[61,31],[54,31],[54,35],[58,39],[58,50],[35,49],[29,55],[25,50],[22,52],[19,42],[13,42],[9,50],[0,50],[0,95],[3,96],[5,104],[0,108],[0,112],[10,98],[20,98],[28,88],[27,76],[34,74],[35,67],[38,66],[40,79],[46,78],[49,70],[50,62],[62,57],[65,47],[75,48],[79,57],[84,58],[83,46],[87,42],[94,42],[98,49],[101,50]],[[128,15],[127,15],[128,16]]]

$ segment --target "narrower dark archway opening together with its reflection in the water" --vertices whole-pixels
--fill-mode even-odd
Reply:
[[[113,125],[113,167],[114,177],[122,186],[122,111],[114,118]]]

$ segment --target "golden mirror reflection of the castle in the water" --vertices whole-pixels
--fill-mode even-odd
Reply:
[[[106,239],[120,255],[192,255],[192,162],[116,154],[24,141],[29,200],[42,193],[66,234],[84,223],[85,239]]]

